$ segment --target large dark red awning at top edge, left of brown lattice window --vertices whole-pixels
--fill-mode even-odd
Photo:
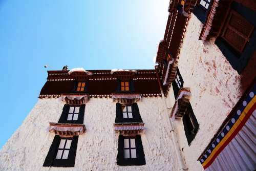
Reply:
[[[211,38],[220,35],[222,23],[224,22],[230,3],[232,1],[226,0],[212,0],[209,12],[207,14],[203,29],[201,31],[200,40],[210,40]]]

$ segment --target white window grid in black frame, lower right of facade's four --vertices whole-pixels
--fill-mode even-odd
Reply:
[[[137,158],[135,138],[124,139],[124,158],[125,159]]]

